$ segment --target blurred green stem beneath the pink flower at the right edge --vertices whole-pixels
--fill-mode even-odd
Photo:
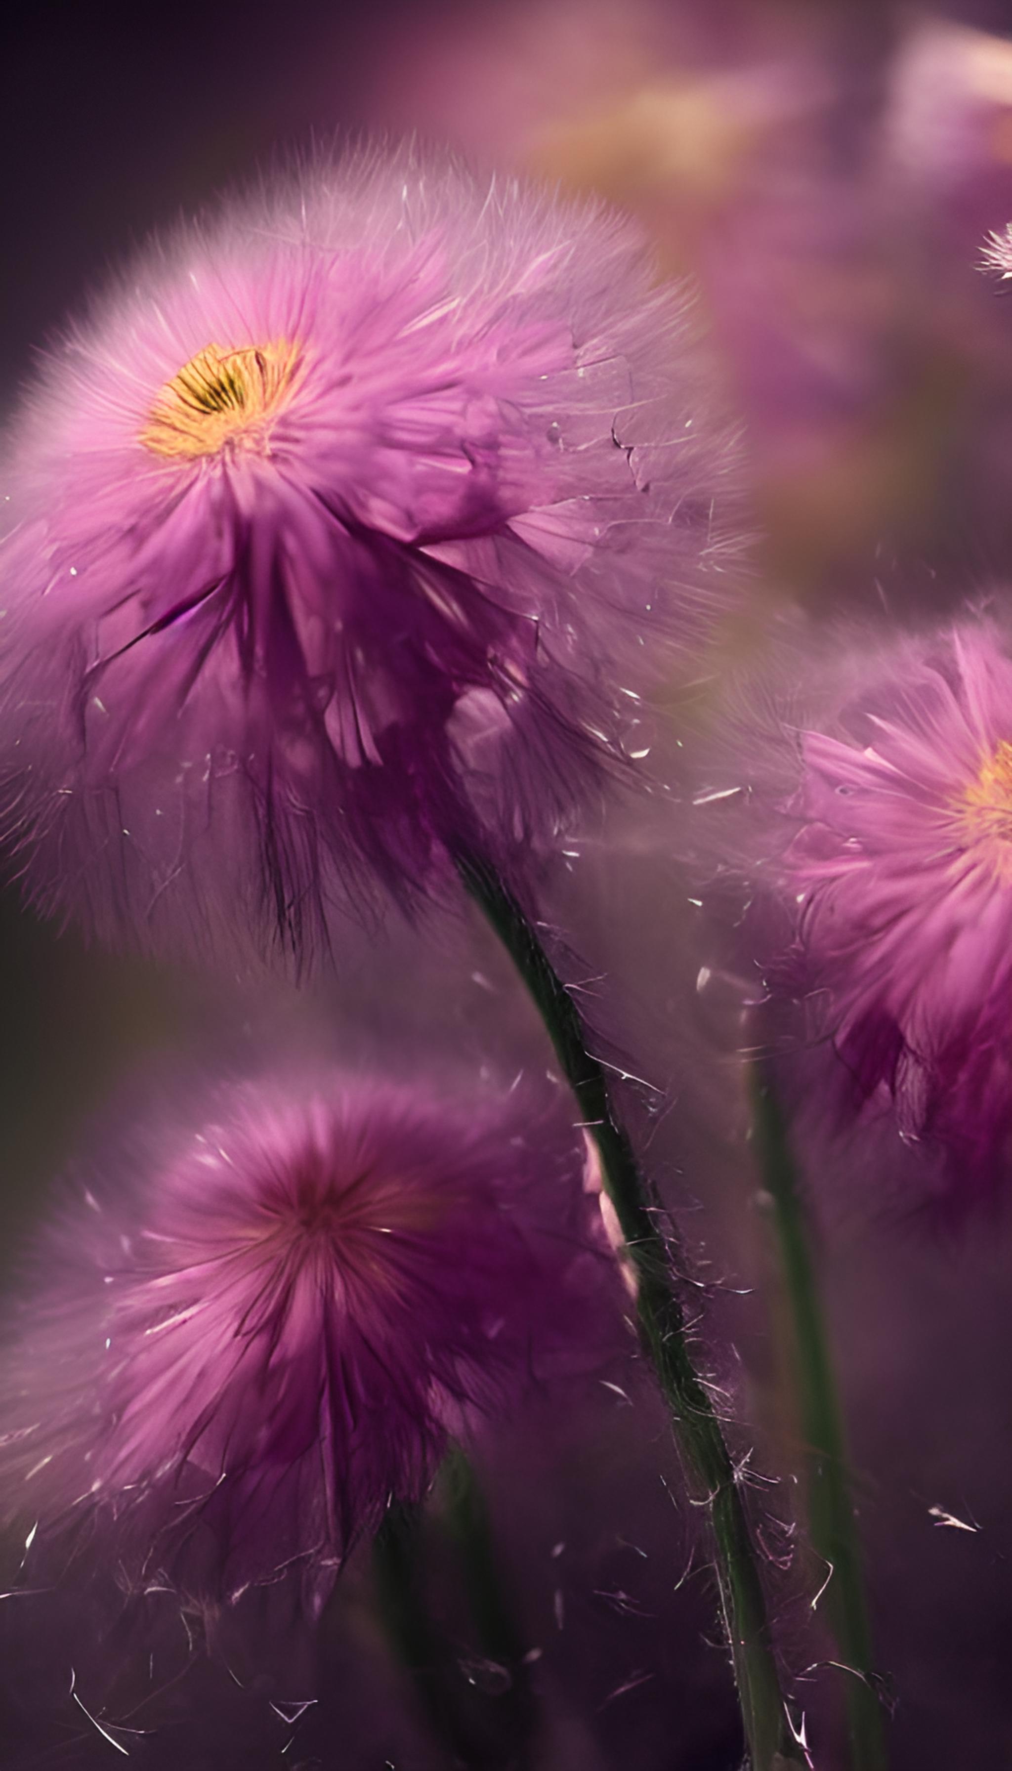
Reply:
[[[847,1475],[847,1445],[805,1206],[769,1068],[759,1059],[753,1061],[751,1080],[757,1164],[773,1201],[773,1224],[790,1311],[801,1431],[808,1452],[808,1527],[812,1548],[828,1564],[826,1615],[849,1668],[845,1702],[851,1764],[854,1771],[884,1771],[883,1713],[872,1674],[872,1633]]]

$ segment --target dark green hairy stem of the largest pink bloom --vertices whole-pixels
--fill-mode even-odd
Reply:
[[[689,1486],[707,1505],[712,1521],[720,1599],[734,1656],[751,1771],[803,1764],[805,1759],[787,1725],[759,1558],[736,1468],[709,1392],[689,1355],[668,1241],[659,1229],[659,1201],[640,1174],[629,1137],[611,1105],[604,1068],[588,1048],[580,1009],[555,972],[518,898],[480,855],[457,850],[454,861],[466,891],[533,997],[580,1105],[580,1121],[601,1156],[603,1185],[615,1206],[636,1273],[640,1339],[668,1403]]]

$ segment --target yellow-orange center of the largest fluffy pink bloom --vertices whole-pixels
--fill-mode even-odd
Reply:
[[[216,455],[225,443],[264,448],[298,363],[298,345],[287,338],[243,351],[209,344],[165,383],[140,441],[154,455],[190,460]]]

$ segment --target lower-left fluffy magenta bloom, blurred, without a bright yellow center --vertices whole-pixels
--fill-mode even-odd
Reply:
[[[41,1238],[4,1358],[35,1555],[94,1537],[131,1590],[211,1603],[296,1569],[315,1613],[450,1431],[604,1357],[615,1275],[560,1103],[250,1084],[119,1167]]]

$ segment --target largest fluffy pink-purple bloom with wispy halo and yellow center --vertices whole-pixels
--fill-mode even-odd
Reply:
[[[16,421],[7,827],[46,912],[296,965],[642,744],[734,452],[633,223],[413,154],[151,251]]]

